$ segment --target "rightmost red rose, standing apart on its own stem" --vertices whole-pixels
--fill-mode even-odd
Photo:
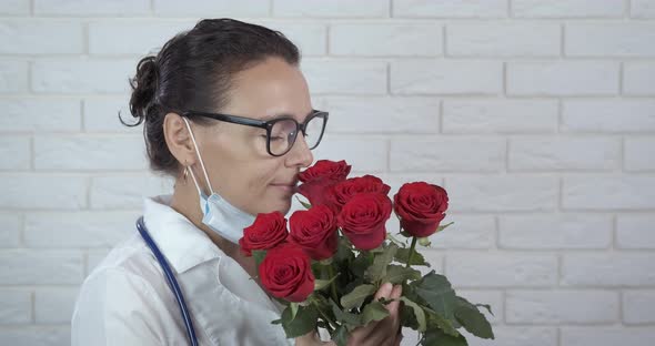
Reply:
[[[394,210],[405,232],[425,237],[436,232],[446,216],[449,195],[446,191],[425,182],[406,183],[394,196]]]

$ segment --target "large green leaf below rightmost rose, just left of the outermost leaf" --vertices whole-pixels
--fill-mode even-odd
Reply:
[[[445,276],[431,271],[413,284],[415,284],[416,294],[437,314],[446,319],[455,318],[455,308],[457,307],[455,291]]]

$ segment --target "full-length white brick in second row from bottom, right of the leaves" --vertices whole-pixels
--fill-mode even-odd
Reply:
[[[618,319],[618,294],[611,291],[510,291],[507,324],[595,324]]]

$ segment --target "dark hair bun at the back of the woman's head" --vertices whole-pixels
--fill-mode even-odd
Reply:
[[[130,112],[138,121],[134,125],[145,121],[145,116],[151,112],[155,104],[157,84],[159,82],[155,57],[149,55],[139,61],[137,65],[137,75],[130,79],[132,86],[132,96],[130,98]]]

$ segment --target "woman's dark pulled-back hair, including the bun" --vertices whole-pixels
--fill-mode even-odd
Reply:
[[[164,115],[175,110],[220,112],[229,103],[232,75],[270,57],[291,65],[300,52],[286,37],[261,26],[229,18],[203,19],[193,29],[178,33],[157,53],[137,65],[130,79],[130,112],[144,123],[143,138],[150,169],[175,175],[179,163],[169,151],[163,133]],[[203,123],[198,119],[199,123]]]

